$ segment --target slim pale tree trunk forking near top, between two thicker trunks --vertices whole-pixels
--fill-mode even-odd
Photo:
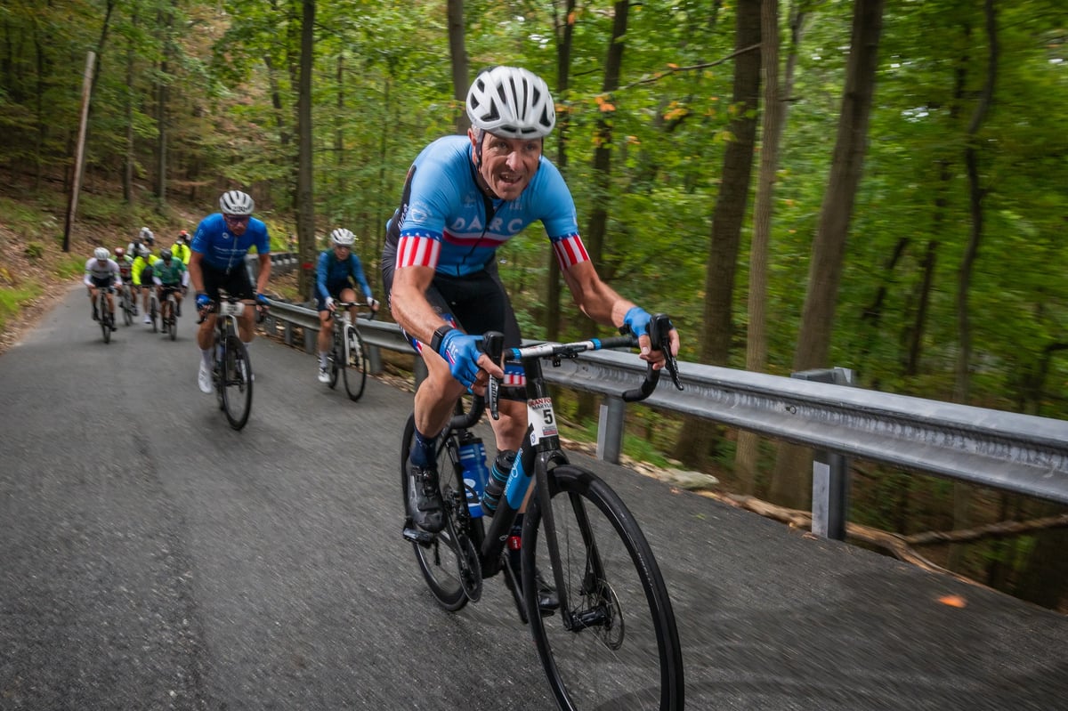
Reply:
[[[760,169],[757,177],[753,220],[753,244],[749,265],[749,333],[745,337],[745,369],[763,373],[768,365],[768,333],[765,305],[768,294],[768,251],[771,243],[771,214],[779,169],[779,145],[786,127],[789,105],[784,97],[794,90],[794,68],[801,42],[804,13],[790,17],[790,50],[785,80],[779,82],[779,1],[764,0],[760,7],[760,63],[764,67],[764,127]],[[735,475],[745,494],[756,493],[760,436],[739,431],[735,449]]]

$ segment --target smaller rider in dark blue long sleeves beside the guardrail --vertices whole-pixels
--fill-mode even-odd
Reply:
[[[367,278],[363,275],[360,257],[352,252],[356,235],[344,227],[339,227],[330,233],[330,243],[333,249],[319,254],[315,279],[315,309],[319,312],[319,382],[330,382],[327,359],[333,333],[330,314],[336,311],[334,300],[356,301],[356,291],[352,289],[356,284],[366,297],[371,310],[378,311],[378,302],[372,298]],[[356,318],[356,306],[350,306],[348,313]]]

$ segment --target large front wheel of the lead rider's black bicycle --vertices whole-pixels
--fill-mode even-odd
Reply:
[[[580,467],[553,469],[549,490],[568,605],[586,621],[567,630],[563,610],[538,614],[535,565],[546,576],[551,565],[535,495],[523,523],[523,596],[556,704],[565,710],[682,709],[675,614],[634,517],[608,484]]]

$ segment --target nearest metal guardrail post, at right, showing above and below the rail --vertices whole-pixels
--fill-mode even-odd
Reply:
[[[851,385],[849,368],[817,368],[791,373],[791,378]],[[812,532],[833,540],[846,539],[849,510],[849,460],[834,452],[817,451],[812,460]]]

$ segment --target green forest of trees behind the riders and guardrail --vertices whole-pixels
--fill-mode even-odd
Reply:
[[[466,129],[474,73],[516,64],[553,90],[545,154],[600,273],[673,316],[682,360],[844,366],[863,388],[1068,413],[1061,1],[9,0],[0,319],[84,259],[63,246],[89,52],[75,244],[191,231],[239,188],[307,264],[351,228],[380,294],[408,165]],[[597,332],[539,228],[499,256],[524,335]],[[806,453],[634,410],[639,456],[808,506]],[[594,427],[595,404],[567,415]],[[924,556],[1068,612],[1064,507],[863,462],[851,479],[851,521],[977,532]],[[1036,519],[1055,523],[991,525]]]

